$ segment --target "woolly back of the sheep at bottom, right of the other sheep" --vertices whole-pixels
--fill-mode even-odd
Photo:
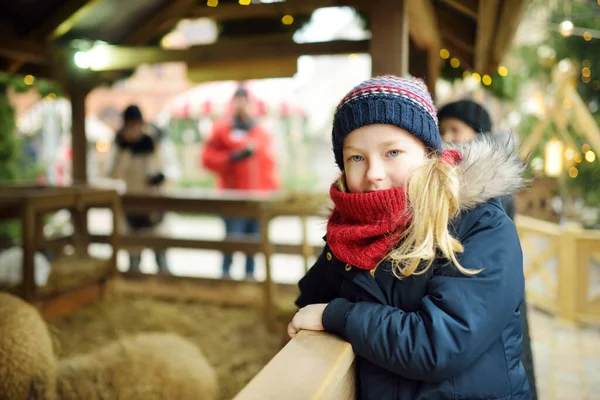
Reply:
[[[198,348],[172,333],[139,334],[61,360],[63,400],[215,400],[217,378]]]

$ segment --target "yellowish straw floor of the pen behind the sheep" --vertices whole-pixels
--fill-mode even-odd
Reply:
[[[279,351],[280,335],[260,310],[124,298],[96,303],[54,322],[61,358],[142,332],[173,332],[196,344],[215,368],[221,399],[231,399]]]

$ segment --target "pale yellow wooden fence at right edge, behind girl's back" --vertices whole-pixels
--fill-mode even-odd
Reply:
[[[567,321],[600,321],[600,231],[518,216],[527,300]]]

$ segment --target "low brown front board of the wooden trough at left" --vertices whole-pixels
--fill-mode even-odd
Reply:
[[[37,308],[46,321],[72,315],[102,297],[104,283],[95,282],[75,290],[37,302]]]

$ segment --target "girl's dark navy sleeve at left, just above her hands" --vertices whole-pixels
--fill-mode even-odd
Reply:
[[[329,303],[339,296],[343,278],[327,262],[327,251],[325,247],[315,265],[298,282],[300,296],[296,299],[296,305],[299,308],[309,304]]]

